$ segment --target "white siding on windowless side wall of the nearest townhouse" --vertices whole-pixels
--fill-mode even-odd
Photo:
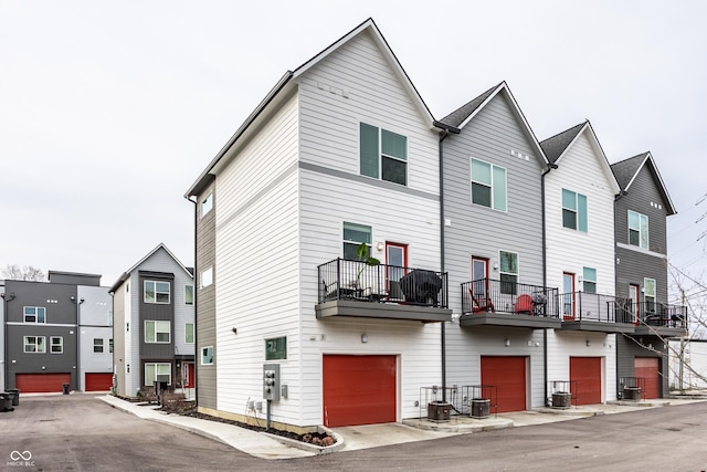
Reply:
[[[217,398],[226,412],[262,398],[266,338],[287,336],[281,376],[298,375],[297,106],[296,96],[282,104],[217,176]],[[293,422],[296,410],[283,400],[272,419]]]

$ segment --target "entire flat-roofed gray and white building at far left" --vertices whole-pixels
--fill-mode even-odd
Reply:
[[[108,390],[112,306],[101,275],[49,271],[49,282],[4,281],[4,388]]]

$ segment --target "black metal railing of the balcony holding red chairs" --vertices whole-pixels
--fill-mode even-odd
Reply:
[[[462,284],[462,312],[559,317],[557,289],[479,279]]]

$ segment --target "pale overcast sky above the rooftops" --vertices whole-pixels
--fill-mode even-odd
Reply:
[[[705,266],[707,2],[0,0],[0,268],[113,284],[160,242],[193,264],[183,193],[286,70],[372,17],[435,118],[505,80],[539,139],[589,118],[652,151]]]

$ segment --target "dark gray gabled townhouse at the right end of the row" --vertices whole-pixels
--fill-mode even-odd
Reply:
[[[635,333],[616,336],[618,392],[637,380],[643,398],[669,392],[667,339],[687,334],[686,311],[668,303],[667,223],[676,210],[651,153],[613,164],[616,297]]]

